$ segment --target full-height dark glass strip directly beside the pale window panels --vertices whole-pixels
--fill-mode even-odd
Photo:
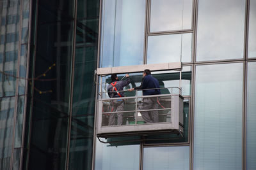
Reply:
[[[76,56],[68,169],[92,169],[99,0],[77,1]]]

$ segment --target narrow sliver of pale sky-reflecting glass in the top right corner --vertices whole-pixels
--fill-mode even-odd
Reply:
[[[256,57],[256,1],[250,1],[248,57]]]

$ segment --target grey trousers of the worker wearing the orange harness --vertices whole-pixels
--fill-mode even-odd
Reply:
[[[124,111],[124,101],[116,99],[111,101],[112,111]],[[123,113],[111,113],[109,115],[108,125],[115,125],[115,115],[117,115],[117,125],[123,124]]]

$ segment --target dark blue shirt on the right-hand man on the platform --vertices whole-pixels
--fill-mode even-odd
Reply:
[[[143,96],[161,94],[159,87],[159,82],[152,75],[147,75],[143,78],[142,89],[152,89],[152,90],[143,90]]]

